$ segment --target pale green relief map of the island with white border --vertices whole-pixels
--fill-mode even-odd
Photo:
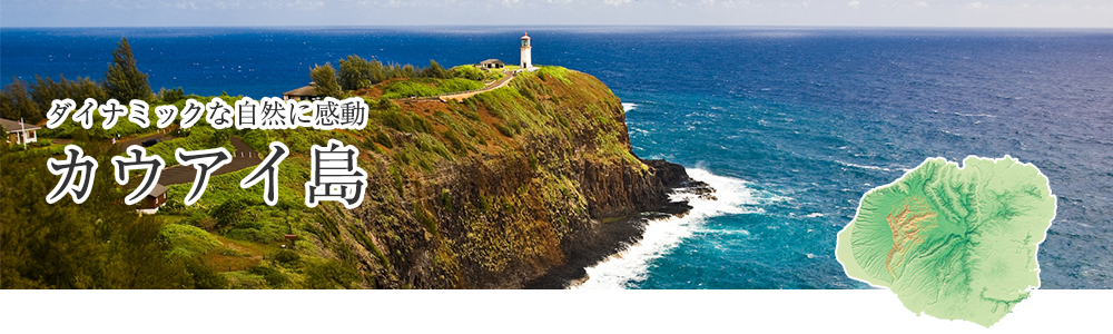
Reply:
[[[988,327],[1040,287],[1036,250],[1055,205],[1034,165],[930,158],[866,193],[835,254],[916,314]]]

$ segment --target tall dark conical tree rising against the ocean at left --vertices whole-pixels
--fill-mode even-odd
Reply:
[[[150,90],[147,75],[136,67],[128,39],[122,38],[117,46],[116,51],[112,51],[112,65],[105,72],[105,90],[108,96],[125,104],[132,99],[152,100],[155,92]]]

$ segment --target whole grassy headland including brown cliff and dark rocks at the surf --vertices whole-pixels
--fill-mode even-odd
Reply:
[[[520,73],[508,87],[462,102],[366,99],[371,121],[362,130],[213,130],[203,122],[150,148],[166,158],[179,146],[232,147],[228,138],[239,137],[265,156],[270,141],[282,141],[292,153],[279,165],[276,206],[263,203],[263,183],[239,188],[252,167],[214,176],[193,206],[181,203],[190,184],[173,185],[158,214],[137,217],[129,214],[134,208],[112,200],[126,194],[110,179],[108,158],[122,148],[77,134],[75,144],[101,160],[99,195],[82,205],[67,197],[52,208],[40,202],[57,181],[46,173],[45,159],[58,150],[4,148],[6,163],[42,171],[26,177],[4,168],[6,189],[32,178],[40,185],[18,199],[6,190],[4,199],[13,199],[3,208],[6,287],[524,287],[554,268],[582,265],[638,238],[640,225],[613,218],[659,209],[667,184],[687,178],[679,166],[634,157],[619,99],[598,79],[563,68]],[[358,164],[370,174],[367,195],[355,209],[304,204],[309,147],[331,138],[358,147]],[[68,250],[52,249],[65,244],[58,239],[29,233],[51,223],[13,206],[87,216],[62,227],[90,229],[72,232],[78,235],[66,242],[95,249],[72,261],[116,256],[104,246],[115,238],[155,254],[145,262],[148,267],[161,258],[154,267],[170,278],[127,285],[101,277],[97,268],[72,274],[88,276],[83,282],[68,274],[43,276],[30,264],[49,255],[32,250]],[[134,234],[131,227],[82,225],[109,216],[116,225],[152,232],[128,239],[121,234]],[[296,242],[286,234],[297,235]],[[144,271],[138,263],[131,271]]]

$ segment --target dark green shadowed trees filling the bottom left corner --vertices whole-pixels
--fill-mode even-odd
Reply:
[[[77,143],[110,166],[104,146]],[[10,151],[0,143],[0,286],[3,288],[191,288],[209,287],[207,272],[168,256],[162,223],[120,204],[125,195],[111,173],[93,178],[89,199],[47,204],[56,177],[46,169],[51,153]],[[16,171],[18,170],[18,173]],[[208,282],[208,283],[206,283]]]

